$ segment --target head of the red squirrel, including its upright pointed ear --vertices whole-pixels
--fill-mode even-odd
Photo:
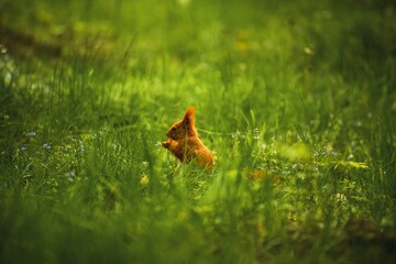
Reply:
[[[183,117],[183,120],[174,123],[170,129],[167,131],[166,136],[172,140],[182,140],[184,138],[197,135],[197,131],[194,127],[194,107],[189,107]]]

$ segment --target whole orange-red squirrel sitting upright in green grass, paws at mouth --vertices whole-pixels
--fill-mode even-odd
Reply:
[[[167,131],[167,141],[162,145],[172,152],[182,163],[195,161],[198,166],[210,169],[215,165],[213,154],[198,138],[195,128],[195,108],[189,107],[183,120],[174,123]]]

